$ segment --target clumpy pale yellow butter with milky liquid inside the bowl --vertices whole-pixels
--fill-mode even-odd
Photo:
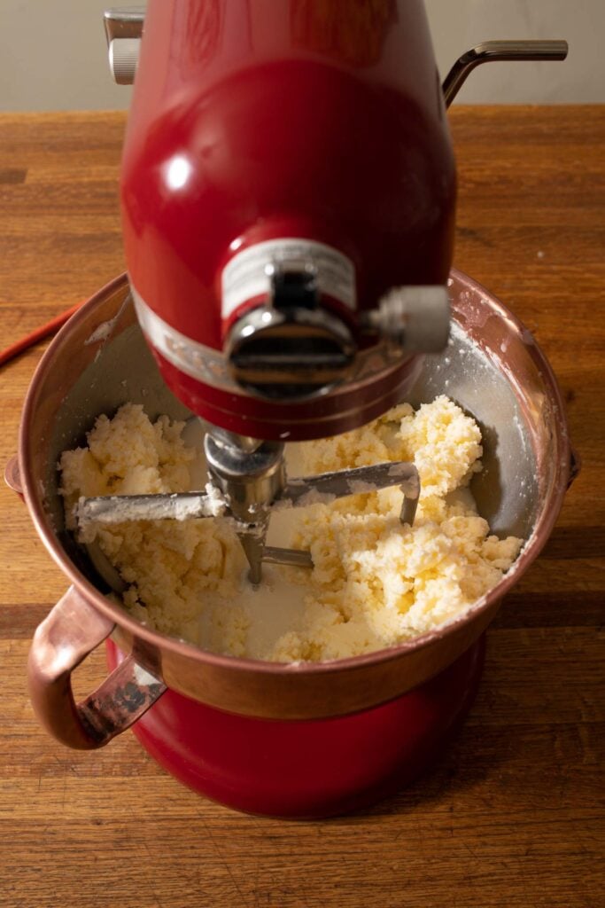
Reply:
[[[167,417],[151,424],[134,404],[99,417],[88,446],[60,460],[68,528],[81,495],[190,489],[198,454],[182,429]],[[491,535],[466,489],[481,455],[479,427],[443,396],[288,446],[292,475],[413,460],[422,482],[415,525],[401,525],[396,488],[290,510],[276,541],[310,549],[314,567],[265,568],[258,590],[224,520],[124,523],[97,528],[97,538],[128,584],[124,607],[163,634],[281,662],[357,656],[461,615],[511,567],[522,540]],[[277,512],[272,524],[284,516]]]

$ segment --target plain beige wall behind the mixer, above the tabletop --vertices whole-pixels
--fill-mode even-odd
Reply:
[[[112,83],[106,64],[102,11],[108,5],[119,0],[0,0],[0,109],[127,106],[130,89]],[[459,101],[605,101],[605,0],[426,0],[426,8],[442,74],[483,40],[570,42],[563,64],[483,67],[470,77]]]

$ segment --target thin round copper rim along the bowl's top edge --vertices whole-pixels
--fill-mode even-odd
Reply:
[[[531,337],[529,331],[524,327],[522,322],[508,310],[502,302],[493,297],[492,293],[487,291],[482,284],[474,281],[473,278],[468,277],[462,271],[457,271],[457,269],[454,268],[451,271],[451,276],[455,281],[462,283],[465,290],[481,294],[483,300],[489,304],[492,310],[503,317],[508,326],[511,328],[513,327],[522,339],[526,339],[528,336]],[[537,342],[532,339],[531,343],[527,344],[527,350],[536,366],[542,372],[544,387],[561,414],[559,433],[563,452],[561,459],[559,459],[559,462],[556,465],[556,474],[552,484],[551,494],[544,503],[538,521],[533,528],[532,535],[523,545],[521,554],[503,579],[493,587],[493,589],[473,603],[473,606],[468,608],[464,614],[434,630],[427,631],[419,637],[407,640],[404,643],[388,646],[385,647],[385,649],[379,649],[373,653],[366,653],[362,656],[332,659],[325,662],[281,663],[262,661],[259,659],[244,659],[236,656],[220,656],[219,654],[202,650],[198,646],[194,646],[193,644],[179,640],[175,637],[166,637],[159,631],[145,627],[135,618],[131,617],[125,609],[118,605],[114,605],[109,599],[104,597],[102,593],[100,593],[96,587],[93,587],[93,584],[75,568],[72,561],[67,557],[50,528],[48,518],[44,513],[42,501],[33,494],[35,489],[35,478],[30,473],[27,459],[24,458],[24,451],[29,450],[29,426],[32,421],[38,391],[41,389],[49,371],[52,369],[57,350],[60,350],[63,347],[64,342],[72,334],[73,328],[75,328],[80,321],[83,321],[88,317],[90,311],[100,300],[107,297],[110,293],[120,290],[127,281],[127,275],[123,273],[112,281],[109,281],[109,283],[105,284],[104,287],[94,293],[88,301],[83,303],[81,309],[76,311],[71,319],[63,325],[61,331],[55,336],[54,341],[51,342],[48,349],[44,352],[44,356],[34,372],[34,377],[25,396],[24,410],[19,429],[19,462],[20,474],[24,485],[25,501],[34,521],[34,527],[40,538],[42,538],[42,541],[52,558],[54,558],[54,561],[59,565],[63,570],[63,573],[67,575],[69,580],[73,583],[73,586],[83,597],[91,602],[103,615],[111,618],[117,625],[129,631],[132,634],[132,637],[142,638],[150,643],[151,646],[170,650],[174,656],[182,656],[188,660],[197,660],[201,663],[206,663],[209,666],[226,668],[235,672],[249,672],[252,670],[260,674],[286,676],[292,675],[292,673],[312,673],[314,675],[322,675],[351,669],[360,669],[364,666],[388,662],[391,659],[402,656],[404,653],[421,651],[426,646],[433,645],[437,640],[454,634],[459,627],[464,625],[464,623],[469,621],[472,617],[480,615],[491,607],[494,601],[502,598],[511,589],[518,576],[529,568],[532,561],[537,558],[542,551],[546,540],[551,534],[551,529],[559,516],[561,504],[569,482],[571,447],[568,440],[567,420],[565,417],[563,400],[561,398],[561,391],[559,390],[557,380],[554,377],[554,373],[551,370],[548,360],[542,353]]]

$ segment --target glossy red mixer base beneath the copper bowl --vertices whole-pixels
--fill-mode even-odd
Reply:
[[[353,716],[274,722],[168,690],[134,725],[158,763],[202,795],[251,814],[310,819],[373,804],[440,754],[479,686],[483,637],[422,687]],[[113,668],[122,654],[108,642]]]

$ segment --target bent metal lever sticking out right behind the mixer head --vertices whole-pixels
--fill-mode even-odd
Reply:
[[[518,60],[564,60],[568,54],[567,41],[483,41],[456,60],[445,76],[442,86],[445,106],[454,101],[469,74],[483,63]]]

